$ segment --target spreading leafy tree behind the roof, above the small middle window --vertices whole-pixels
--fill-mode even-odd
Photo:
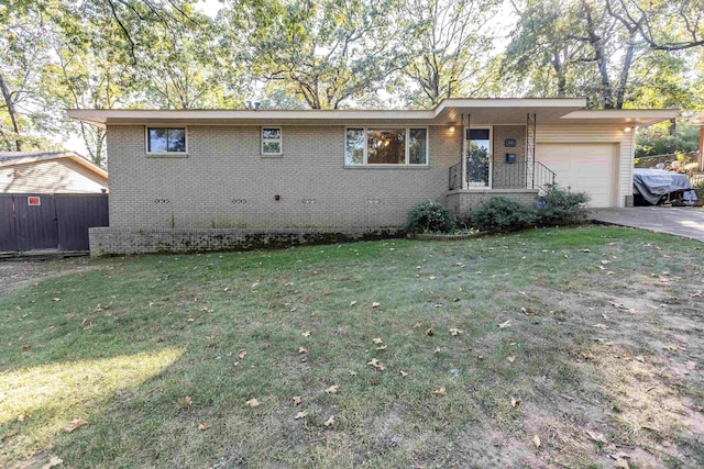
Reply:
[[[399,13],[395,0],[251,0],[237,7],[220,19],[233,30],[226,44],[240,45],[231,62],[249,63],[256,81],[300,96],[308,108],[339,109],[383,88],[404,65],[397,31],[389,27]]]

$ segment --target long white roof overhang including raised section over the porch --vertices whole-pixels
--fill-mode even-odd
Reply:
[[[432,110],[100,110],[72,109],[68,116],[107,125],[524,125],[528,114],[537,122],[553,121],[584,109],[583,98],[446,99]]]

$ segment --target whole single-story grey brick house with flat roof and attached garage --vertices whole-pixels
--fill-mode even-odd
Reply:
[[[91,233],[100,254],[226,248],[218,239],[243,231],[394,230],[424,200],[462,216],[493,196],[531,201],[553,180],[588,192],[593,206],[624,206],[635,127],[678,112],[585,105],[446,99],[432,110],[68,115],[107,129],[110,227]]]

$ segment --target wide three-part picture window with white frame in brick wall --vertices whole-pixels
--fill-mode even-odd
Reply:
[[[427,165],[427,129],[366,129],[345,131],[345,166]]]

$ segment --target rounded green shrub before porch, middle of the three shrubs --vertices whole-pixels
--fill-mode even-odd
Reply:
[[[514,232],[535,225],[536,210],[499,196],[472,210],[470,219],[474,227],[483,232]]]

